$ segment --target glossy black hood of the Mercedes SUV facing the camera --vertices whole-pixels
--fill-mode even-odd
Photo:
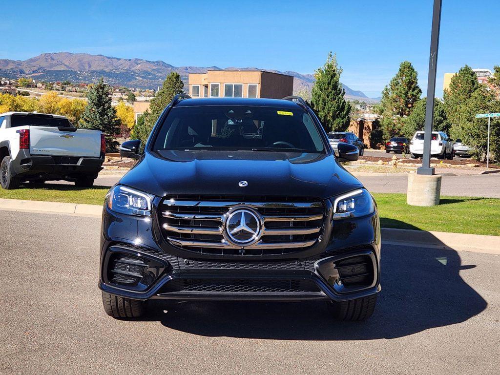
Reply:
[[[248,185],[240,187],[239,181]],[[361,187],[333,155],[267,151],[146,152],[120,183],[157,196],[294,195],[327,198]]]

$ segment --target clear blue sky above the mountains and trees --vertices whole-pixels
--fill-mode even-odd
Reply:
[[[426,90],[432,0],[5,1],[0,58],[87,52],[175,66],[312,73],[337,53],[342,82],[378,96],[409,60]],[[444,72],[500,64],[498,0],[443,0],[436,95]]]

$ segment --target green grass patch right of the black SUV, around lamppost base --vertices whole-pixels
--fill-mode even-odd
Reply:
[[[406,194],[374,193],[385,228],[500,235],[500,199],[441,196],[440,204],[416,207]]]

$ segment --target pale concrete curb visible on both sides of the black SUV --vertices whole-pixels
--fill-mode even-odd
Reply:
[[[0,198],[0,210],[101,217],[102,205]],[[382,244],[500,254],[500,236],[381,228]]]

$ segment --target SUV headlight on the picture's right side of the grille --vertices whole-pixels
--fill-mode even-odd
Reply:
[[[333,219],[368,215],[375,209],[373,198],[366,189],[357,189],[331,198]]]

